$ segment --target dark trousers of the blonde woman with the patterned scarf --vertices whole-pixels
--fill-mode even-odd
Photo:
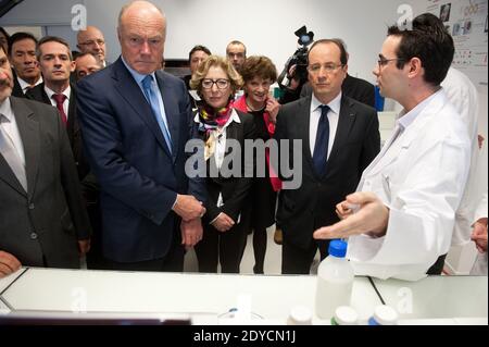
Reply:
[[[212,225],[204,225],[202,240],[196,246],[199,272],[217,272],[221,263],[223,273],[239,273],[242,250],[247,243],[247,231],[241,224],[235,225],[225,233]]]

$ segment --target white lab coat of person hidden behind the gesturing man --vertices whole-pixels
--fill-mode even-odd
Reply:
[[[450,102],[462,116],[462,121],[466,126],[468,137],[472,141],[468,179],[462,201],[456,210],[455,226],[452,236],[452,246],[460,246],[471,241],[473,213],[477,208],[477,202],[480,200],[482,191],[478,186],[480,183],[478,172],[480,170],[477,169],[480,152],[477,140],[479,102],[477,89],[474,84],[456,69],[450,67],[441,86]]]

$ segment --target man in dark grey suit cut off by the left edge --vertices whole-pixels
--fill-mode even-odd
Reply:
[[[0,277],[21,264],[79,268],[90,225],[55,109],[11,97],[0,47]]]

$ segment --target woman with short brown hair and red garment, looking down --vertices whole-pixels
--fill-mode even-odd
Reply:
[[[253,115],[256,138],[267,141],[275,133],[275,123],[280,104],[268,96],[269,87],[277,79],[277,70],[266,57],[249,57],[241,67],[244,95],[235,102],[235,108]],[[269,166],[266,153],[265,177],[253,179],[251,188],[250,226],[253,230],[253,272],[263,273],[266,252],[266,228],[275,223],[275,205],[280,181]]]

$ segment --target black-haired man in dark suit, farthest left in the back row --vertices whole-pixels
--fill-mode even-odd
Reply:
[[[9,60],[13,71],[12,96],[24,98],[27,90],[42,83],[36,58],[37,39],[29,33],[15,33],[9,38]]]

